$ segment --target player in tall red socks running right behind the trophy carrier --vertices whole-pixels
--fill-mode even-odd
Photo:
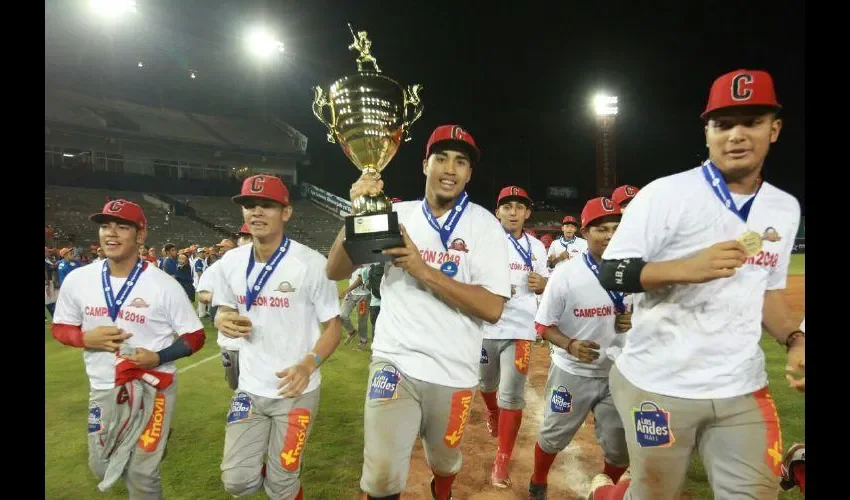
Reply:
[[[496,217],[505,230],[508,247],[506,263],[510,269],[511,299],[498,323],[484,325],[478,387],[487,405],[487,430],[499,438],[490,483],[507,488],[511,484],[508,464],[525,407],[531,343],[537,337],[536,295],[546,287],[549,268],[543,243],[523,232],[523,224],[531,216],[528,193],[517,186],[502,188],[496,206]]]

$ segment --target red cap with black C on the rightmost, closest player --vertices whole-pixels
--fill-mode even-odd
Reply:
[[[708,94],[708,104],[700,118],[712,111],[736,106],[765,106],[782,109],[776,100],[773,78],[766,71],[739,69],[714,80]]]

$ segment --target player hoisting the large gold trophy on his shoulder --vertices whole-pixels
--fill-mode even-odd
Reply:
[[[432,496],[451,498],[478,385],[482,327],[499,321],[510,298],[505,232],[465,191],[481,155],[475,140],[457,125],[441,125],[425,151],[425,197],[393,204],[404,246],[384,250],[393,261],[381,282],[372,341],[360,479],[370,499],[399,498],[417,436],[434,474]],[[367,174],[351,198],[382,188]],[[331,279],[354,267],[344,237],[341,230],[328,257]]]

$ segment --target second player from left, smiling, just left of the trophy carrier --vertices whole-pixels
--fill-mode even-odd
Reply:
[[[301,500],[301,458],[319,407],[319,365],[339,345],[336,284],[325,276],[319,252],[286,236],[292,206],[279,178],[248,177],[233,201],[242,206],[253,241],[221,259],[213,294],[215,326],[244,340],[221,480],[231,495],[264,488],[269,498]]]

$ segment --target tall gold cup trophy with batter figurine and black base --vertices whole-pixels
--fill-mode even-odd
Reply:
[[[378,68],[368,33],[356,35],[349,50],[360,53],[357,73],[343,76],[327,92],[314,87],[313,114],[328,128],[328,142],[339,142],[342,151],[363,174],[380,179],[398,151],[401,140],[410,140],[410,125],[422,116],[421,85],[406,89]],[[365,66],[372,65],[372,69]],[[325,118],[324,108],[330,109]],[[355,264],[390,260],[387,248],[404,246],[398,216],[383,193],[352,200],[352,215],[345,218],[344,247]]]

